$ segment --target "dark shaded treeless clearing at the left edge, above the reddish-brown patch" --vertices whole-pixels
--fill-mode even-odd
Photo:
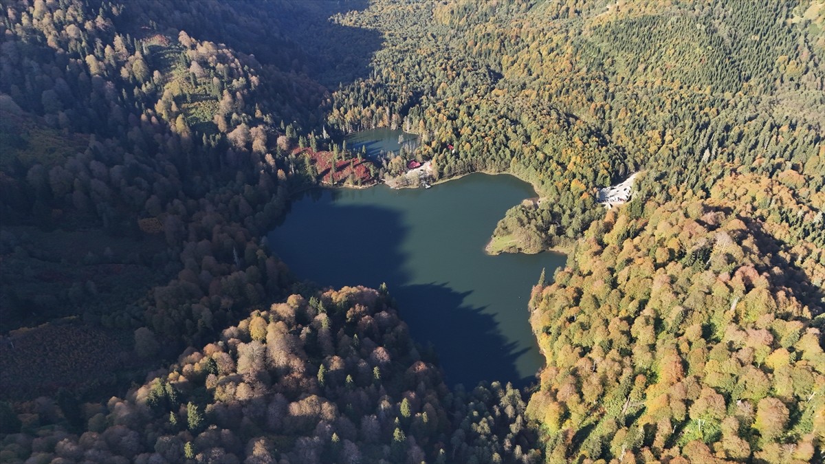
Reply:
[[[0,234],[0,333],[84,312],[106,314],[163,282],[152,265],[166,247],[162,234],[136,239],[99,228],[34,226],[4,226]]]

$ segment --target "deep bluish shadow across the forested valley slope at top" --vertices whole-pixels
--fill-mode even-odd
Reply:
[[[369,75],[369,64],[383,42],[379,31],[343,26],[338,14],[362,11],[368,0],[245,0],[177,2],[174,14],[156,2],[126,2],[117,21],[145,38],[157,32],[225,44],[284,73],[307,74],[327,88]],[[156,30],[149,25],[158,23]],[[163,29],[166,27],[166,29]]]

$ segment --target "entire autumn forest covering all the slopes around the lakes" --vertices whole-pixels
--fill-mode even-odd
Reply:
[[[0,462],[825,459],[822,0],[2,9]],[[535,386],[262,239],[378,127],[535,186],[490,231],[568,253]]]

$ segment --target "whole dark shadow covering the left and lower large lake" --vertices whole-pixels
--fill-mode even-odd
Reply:
[[[479,381],[510,381],[521,387],[533,380],[516,367],[530,348],[507,339],[485,307],[467,304],[470,291],[411,282],[408,255],[401,249],[409,230],[400,212],[342,204],[336,201],[340,195],[304,193],[289,206],[289,219],[267,235],[270,248],[295,275],[335,288],[377,288],[386,282],[413,339],[433,343],[450,384],[472,388]]]

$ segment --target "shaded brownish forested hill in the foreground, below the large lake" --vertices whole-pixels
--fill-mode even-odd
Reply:
[[[70,433],[12,435],[2,455],[112,463],[540,462],[521,393],[498,382],[450,392],[387,301],[378,291],[345,287],[254,310],[125,399],[89,407],[88,419],[77,405],[61,405]],[[24,415],[55,409],[40,402]]]

